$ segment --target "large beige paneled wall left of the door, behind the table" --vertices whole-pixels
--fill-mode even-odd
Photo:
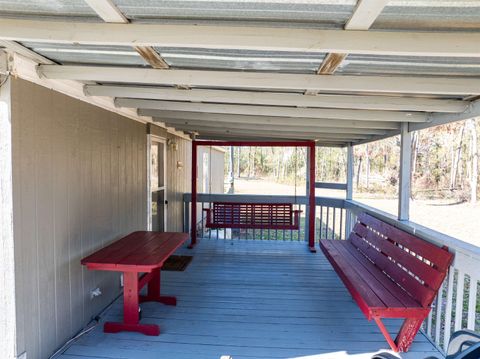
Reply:
[[[17,353],[44,359],[121,291],[80,259],[146,228],[146,126],[22,80],[11,95]]]

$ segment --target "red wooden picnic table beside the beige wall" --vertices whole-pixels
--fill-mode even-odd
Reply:
[[[186,233],[133,232],[82,259],[81,263],[88,269],[123,272],[123,323],[106,322],[105,333],[160,334],[158,325],[139,323],[139,302],[177,304],[175,297],[160,295],[160,270],[187,239]],[[139,277],[139,273],[144,274]],[[140,290],[147,283],[147,295],[140,296]]]

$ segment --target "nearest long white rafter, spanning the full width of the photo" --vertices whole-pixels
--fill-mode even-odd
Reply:
[[[475,32],[344,31],[0,19],[0,40],[366,55],[480,57]]]

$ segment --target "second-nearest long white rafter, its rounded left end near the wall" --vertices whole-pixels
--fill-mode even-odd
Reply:
[[[313,90],[325,92],[367,92],[432,95],[480,93],[480,80],[468,77],[426,76],[326,76],[239,71],[168,70],[110,67],[40,65],[43,78],[130,84],[196,87]]]

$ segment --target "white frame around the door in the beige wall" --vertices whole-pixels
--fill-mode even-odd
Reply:
[[[167,231],[167,214],[168,206],[167,201],[167,139],[155,135],[147,135],[147,230],[152,230],[152,188],[151,188],[151,172],[152,172],[152,143],[158,142],[163,144],[163,186],[158,187],[164,190],[164,203],[163,203],[163,228]]]

